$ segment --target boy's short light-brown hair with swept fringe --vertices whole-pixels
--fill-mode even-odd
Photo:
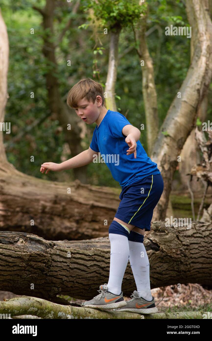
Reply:
[[[78,101],[84,97],[89,102],[95,102],[97,95],[102,98],[102,106],[104,105],[103,88],[91,78],[80,79],[68,92],[67,105],[71,108],[76,108]]]

